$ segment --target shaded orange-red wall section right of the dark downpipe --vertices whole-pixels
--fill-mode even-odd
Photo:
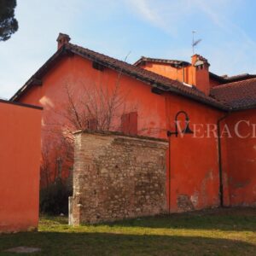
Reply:
[[[237,122],[245,120],[238,127]],[[255,109],[231,113],[226,119],[231,138],[226,138],[227,172],[231,206],[256,206],[256,112]]]

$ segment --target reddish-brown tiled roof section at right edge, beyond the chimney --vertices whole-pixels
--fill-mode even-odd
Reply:
[[[234,110],[256,108],[256,79],[218,85],[210,96]]]

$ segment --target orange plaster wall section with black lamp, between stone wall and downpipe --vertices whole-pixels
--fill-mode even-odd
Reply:
[[[166,96],[166,104],[171,131],[174,131],[173,120],[180,110],[189,114],[189,126],[194,129],[194,135],[172,136],[170,139],[171,212],[183,212],[182,198],[186,198],[192,209],[218,207],[218,141],[213,132],[207,137],[206,125],[216,124],[221,113],[174,95]],[[181,115],[179,120],[182,118]],[[166,180],[168,187],[168,172]]]

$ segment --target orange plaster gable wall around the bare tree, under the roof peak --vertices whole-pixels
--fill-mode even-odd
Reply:
[[[117,83],[118,73],[105,68],[103,72],[92,68],[92,62],[74,55],[64,57],[54,68],[44,76],[42,86],[33,86],[20,102],[37,104],[44,107],[42,119],[43,147],[45,143],[58,140],[58,136],[51,132],[56,126],[66,124],[63,117],[67,109],[67,85],[73,92],[73,98],[79,99],[84,94],[83,87],[90,90],[94,86],[113,88]],[[162,96],[151,93],[151,87],[125,74],[119,80],[120,90],[126,95],[125,111],[137,110],[138,132],[152,137],[166,137],[165,101]],[[135,109],[134,109],[135,108]],[[116,120],[120,126],[120,118]],[[50,125],[49,125],[50,124]],[[59,128],[58,128],[59,129]],[[57,130],[57,129],[56,129]],[[55,143],[56,144],[56,143]],[[54,165],[54,160],[52,160]],[[69,175],[71,164],[63,165],[62,177]]]

